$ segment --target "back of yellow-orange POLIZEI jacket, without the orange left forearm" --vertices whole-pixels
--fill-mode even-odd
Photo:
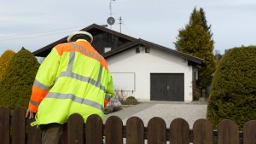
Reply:
[[[78,40],[57,45],[36,79],[51,87],[38,107],[39,124],[64,124],[73,113],[81,114],[84,122],[93,113],[103,118],[102,104],[112,78],[106,60],[90,43]]]

